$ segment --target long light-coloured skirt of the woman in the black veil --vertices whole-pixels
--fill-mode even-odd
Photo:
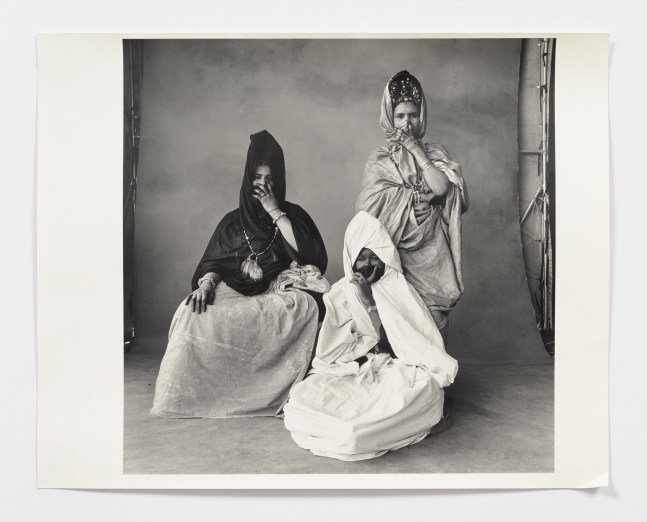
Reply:
[[[315,300],[325,292],[315,267],[284,270],[262,294],[224,282],[202,314],[180,303],[155,385],[160,417],[273,416],[305,375],[317,333]]]

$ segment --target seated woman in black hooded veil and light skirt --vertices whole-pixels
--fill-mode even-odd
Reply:
[[[285,201],[283,150],[251,136],[238,209],[222,219],[180,304],[151,413],[272,416],[312,359],[328,258],[314,222]]]

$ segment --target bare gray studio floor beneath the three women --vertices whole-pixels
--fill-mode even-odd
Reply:
[[[553,470],[553,364],[461,361],[453,426],[361,462],[316,457],[271,417],[162,419],[149,414],[162,352],[125,353],[124,473],[542,473]],[[154,347],[154,348],[153,348]]]

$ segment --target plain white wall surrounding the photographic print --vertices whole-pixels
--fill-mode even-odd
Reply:
[[[645,520],[647,254],[639,163],[646,138],[644,13],[630,0],[232,2],[6,0],[0,7],[4,520]],[[325,7],[324,7],[325,6]],[[543,10],[542,10],[543,9]],[[585,16],[584,16],[585,15]],[[36,52],[41,32],[610,32],[612,151],[611,485],[589,491],[89,492],[36,489],[34,223]],[[83,107],[70,107],[82,111]],[[591,152],[595,154],[595,151]],[[80,180],[82,182],[82,180]],[[91,302],[79,303],[90,306]],[[73,311],[70,311],[73,327]],[[79,412],[82,415],[83,412]]]

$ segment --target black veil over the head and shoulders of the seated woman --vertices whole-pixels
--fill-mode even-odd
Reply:
[[[216,227],[211,240],[193,274],[191,286],[198,287],[198,279],[208,272],[216,272],[231,288],[243,295],[255,295],[267,289],[270,281],[290,266],[292,261],[300,265],[315,265],[323,274],[328,257],[323,239],[316,225],[299,205],[285,201],[285,160],[283,149],[267,131],[250,136],[245,173],[240,188],[239,207],[225,215]],[[272,218],[253,197],[256,166],[262,160],[270,167],[274,194],[279,208],[292,223],[292,231],[298,246],[298,253],[285,241],[280,232],[271,243],[275,233]],[[263,270],[263,278],[255,281],[240,271],[240,265],[252,253],[245,238],[245,232],[256,253],[267,250],[257,259]]]

